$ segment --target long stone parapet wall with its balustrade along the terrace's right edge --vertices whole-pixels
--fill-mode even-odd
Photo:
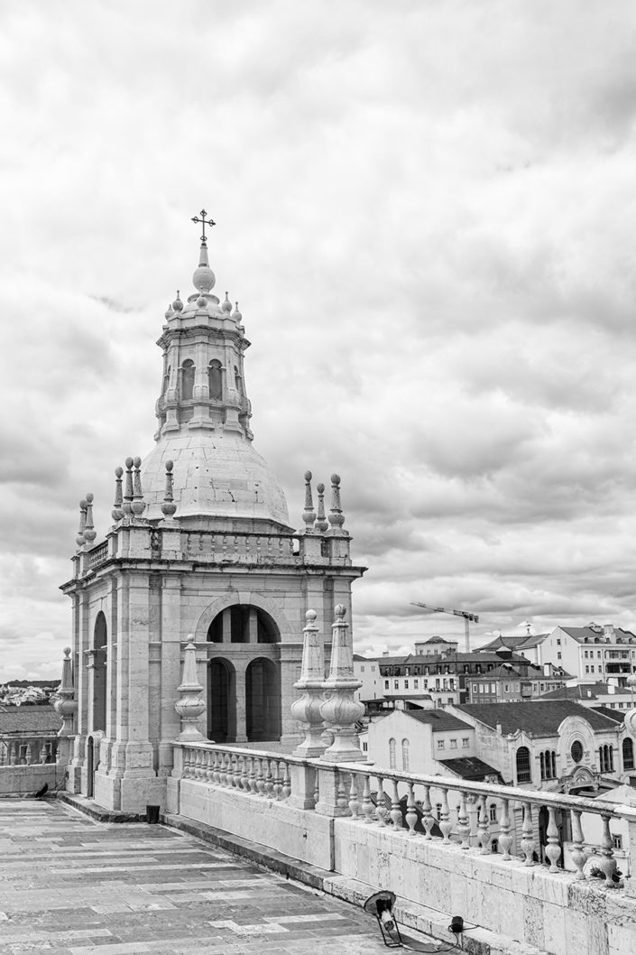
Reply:
[[[439,938],[461,914],[474,951],[636,947],[634,808],[200,743],[175,747],[168,810],[330,873],[334,894],[393,888],[403,917]]]

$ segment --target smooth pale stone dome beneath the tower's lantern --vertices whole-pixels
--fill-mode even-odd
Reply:
[[[175,432],[159,438],[141,464],[148,505],[144,517],[163,517],[168,460],[174,461],[176,518],[269,520],[289,527],[278,477],[244,435],[228,431]]]

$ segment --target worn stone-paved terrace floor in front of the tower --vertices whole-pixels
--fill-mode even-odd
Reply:
[[[387,950],[360,909],[162,825],[2,799],[0,859],[0,955]]]

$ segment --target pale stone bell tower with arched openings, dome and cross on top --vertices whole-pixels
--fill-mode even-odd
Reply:
[[[117,468],[105,541],[95,543],[92,496],[80,502],[62,586],[76,701],[67,788],[130,813],[165,798],[184,648],[196,647],[204,737],[289,744],[307,610],[329,653],[334,608],[350,619],[365,570],[350,559],[337,475],[314,489],[307,472],[304,527],[289,523],[283,488],[252,444],[243,317],[212,292],[204,232],[193,282],[158,341],[155,447]]]

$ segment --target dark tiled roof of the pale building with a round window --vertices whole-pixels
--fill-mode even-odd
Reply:
[[[530,703],[459,703],[456,710],[465,712],[480,723],[501,732],[531,732],[534,736],[556,735],[567,716],[587,720],[593,730],[611,730],[614,725],[606,716],[584,709],[574,700],[534,700]]]

